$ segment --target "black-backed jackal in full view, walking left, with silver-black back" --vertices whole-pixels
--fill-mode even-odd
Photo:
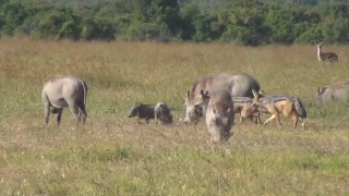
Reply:
[[[306,110],[298,97],[286,95],[257,98],[257,94],[254,90],[252,91],[255,95],[253,102],[261,108],[260,111],[272,114],[264,122],[264,125],[276,119],[276,122],[281,126],[279,113],[282,113],[293,121],[293,128],[297,127],[298,121],[301,121],[302,127],[305,128]]]

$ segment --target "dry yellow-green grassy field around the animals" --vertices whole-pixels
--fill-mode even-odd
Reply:
[[[349,48],[323,48],[339,63],[318,62],[314,46],[0,40],[0,195],[349,195],[349,105],[314,102],[318,86],[349,81]],[[308,128],[237,122],[213,146],[204,122],[127,118],[135,102],[166,101],[178,122],[192,83],[222,72],[299,96]],[[87,83],[84,126],[68,109],[45,126],[40,94],[55,74]]]

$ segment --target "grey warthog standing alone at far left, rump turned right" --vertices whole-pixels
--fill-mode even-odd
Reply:
[[[50,111],[57,113],[58,125],[64,107],[69,107],[77,119],[77,124],[85,123],[87,85],[75,76],[56,75],[48,78],[43,88],[45,122],[48,124]]]

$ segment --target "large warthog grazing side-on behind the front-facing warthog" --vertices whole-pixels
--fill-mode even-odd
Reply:
[[[256,90],[261,96],[264,95],[258,82],[245,73],[205,76],[196,81],[192,89],[186,91],[186,98],[183,103],[185,110],[184,123],[197,122],[201,118],[202,108],[195,105],[195,99],[200,95],[200,91],[214,91],[218,89],[229,91],[232,97],[253,98],[252,89]]]

